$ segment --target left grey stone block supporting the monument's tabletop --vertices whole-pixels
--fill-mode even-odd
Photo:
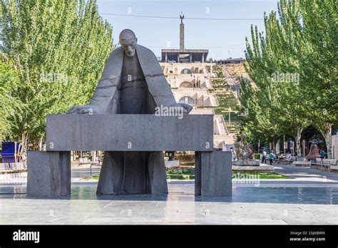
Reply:
[[[37,197],[71,194],[70,152],[29,152],[27,195]]]

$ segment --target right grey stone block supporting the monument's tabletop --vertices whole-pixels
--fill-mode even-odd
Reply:
[[[231,152],[195,152],[195,195],[229,197],[232,195]]]

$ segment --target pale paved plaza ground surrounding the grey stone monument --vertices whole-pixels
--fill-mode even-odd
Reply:
[[[98,174],[99,167],[92,168]],[[96,195],[72,170],[72,194],[26,196],[26,175],[0,175],[0,224],[338,224],[338,173],[275,165],[289,180],[233,180],[232,197],[195,197],[193,180],[168,181],[168,195]]]

